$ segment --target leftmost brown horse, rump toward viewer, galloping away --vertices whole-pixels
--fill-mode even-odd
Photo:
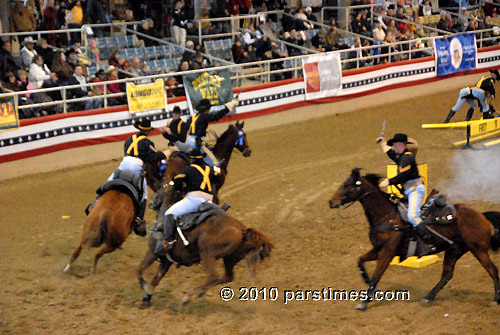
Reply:
[[[159,163],[145,163],[146,179],[150,185],[159,185]],[[78,246],[73,251],[69,263],[64,268],[67,272],[73,262],[80,256],[85,246],[97,248],[91,267],[91,273],[96,273],[97,262],[107,253],[118,249],[134,230],[137,235],[146,236],[146,226],[134,225],[135,205],[125,188],[112,189],[105,192],[97,200],[83,224],[83,231]]]

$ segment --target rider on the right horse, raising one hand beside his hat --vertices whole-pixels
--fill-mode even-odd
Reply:
[[[377,138],[382,150],[398,165],[398,174],[391,178],[385,178],[380,182],[379,187],[389,185],[403,185],[403,191],[408,198],[408,221],[416,228],[416,233],[426,243],[429,240],[429,233],[422,224],[420,209],[425,197],[425,185],[420,178],[415,155],[408,149],[406,134],[395,134],[389,141],[383,137]],[[391,148],[392,146],[392,148]]]

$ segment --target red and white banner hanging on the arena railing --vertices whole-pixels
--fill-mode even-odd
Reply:
[[[340,53],[330,52],[302,59],[306,100],[333,97],[342,89]]]

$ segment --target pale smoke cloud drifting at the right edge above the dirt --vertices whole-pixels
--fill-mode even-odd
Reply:
[[[500,146],[457,150],[451,181],[439,186],[453,202],[488,201],[500,204]]]

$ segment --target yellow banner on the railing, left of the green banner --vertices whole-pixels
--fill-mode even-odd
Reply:
[[[165,88],[162,79],[153,84],[127,83],[128,108],[131,113],[165,109]]]

